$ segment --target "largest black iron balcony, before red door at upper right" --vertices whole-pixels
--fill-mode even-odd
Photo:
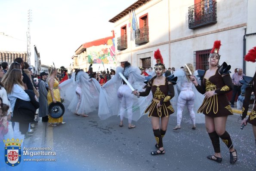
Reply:
[[[217,23],[216,0],[203,0],[188,7],[188,28],[196,29]]]

